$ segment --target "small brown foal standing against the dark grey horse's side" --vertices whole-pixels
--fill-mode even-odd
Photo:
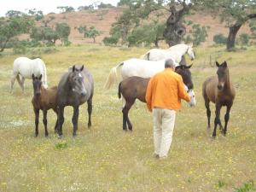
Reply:
[[[32,106],[35,113],[35,137],[38,137],[38,119],[39,119],[39,111],[40,109],[44,114],[44,129],[45,129],[45,137],[48,137],[47,130],[47,112],[50,108],[54,110],[56,114],[58,114],[57,110],[57,86],[51,87],[49,89],[45,89],[42,86],[42,74],[39,77],[36,77],[32,73],[32,84],[33,84],[33,97],[32,97]],[[55,124],[55,131],[57,127],[58,120]]]

